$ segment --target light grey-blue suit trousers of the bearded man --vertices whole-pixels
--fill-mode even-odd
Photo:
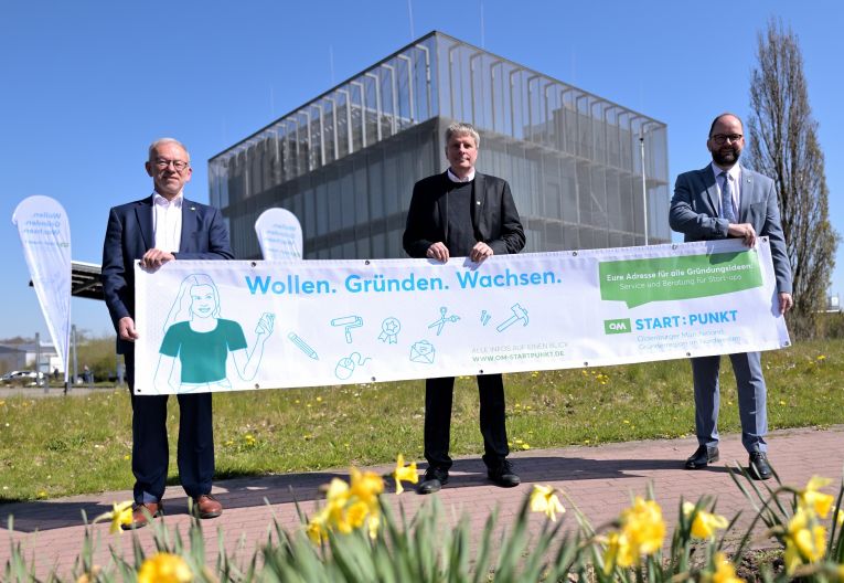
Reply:
[[[738,415],[741,420],[741,444],[748,453],[767,452],[768,411],[765,378],[759,352],[730,354],[738,390]],[[692,359],[695,385],[695,431],[699,445],[718,445],[718,409],[720,357]]]

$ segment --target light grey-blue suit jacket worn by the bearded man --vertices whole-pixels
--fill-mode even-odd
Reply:
[[[727,239],[729,222],[718,218],[718,187],[712,165],[682,173],[674,186],[669,224],[683,233],[685,241]],[[757,235],[770,241],[778,292],[791,294],[791,264],[773,180],[742,166],[739,206],[738,222],[750,223]]]

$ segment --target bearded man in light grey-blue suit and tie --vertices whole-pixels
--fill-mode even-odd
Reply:
[[[777,190],[773,181],[740,166],[745,147],[741,120],[734,114],[722,114],[709,128],[706,147],[712,163],[677,177],[671,200],[669,223],[683,233],[685,241],[737,237],[748,247],[758,236],[767,236],[771,245],[773,272],[780,314],[786,314],[791,298],[791,266],[780,224]],[[755,479],[771,477],[768,464],[768,413],[765,378],[759,352],[730,354],[738,389],[738,413],[741,420],[741,443],[750,454],[749,470]],[[695,391],[695,431],[697,451],[686,459],[686,469],[699,469],[718,460],[718,369],[720,357],[692,359]]]

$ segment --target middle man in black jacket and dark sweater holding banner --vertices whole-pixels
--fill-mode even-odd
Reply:
[[[414,186],[404,247],[412,257],[447,262],[469,256],[481,263],[494,254],[519,253],[525,244],[513,195],[506,181],[474,171],[480,136],[469,124],[446,130],[449,169]],[[455,378],[428,379],[425,383],[425,458],[428,469],[419,494],[431,494],[448,481],[451,402]],[[504,383],[501,374],[478,377],[483,462],[489,478],[499,486],[521,480],[506,459]]]

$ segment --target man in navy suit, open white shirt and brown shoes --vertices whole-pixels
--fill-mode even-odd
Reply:
[[[135,394],[135,263],[156,271],[170,261],[234,258],[220,211],[184,199],[183,188],[192,172],[185,147],[172,138],[154,141],[146,168],[154,191],[146,199],[111,209],[103,244],[103,289],[117,331],[117,352],[126,359],[132,404],[135,511],[126,529],[143,527],[148,516],[163,513],[161,498],[169,458],[168,395]],[[214,518],[223,507],[211,496],[211,393],[180,394],[178,399],[179,477],[200,518]]]

